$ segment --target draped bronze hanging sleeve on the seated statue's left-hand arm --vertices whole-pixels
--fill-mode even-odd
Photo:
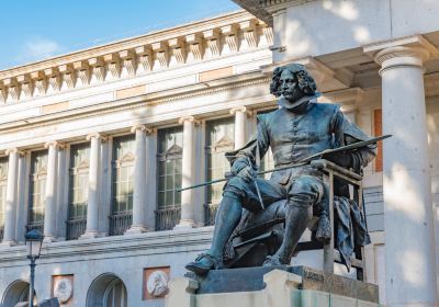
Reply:
[[[248,166],[248,161],[250,160],[255,169],[259,167],[260,159],[266,155],[270,146],[266,115],[267,114],[260,114],[257,116],[257,133],[248,140],[248,143],[243,148],[226,152],[225,157],[230,162],[230,166],[233,166],[234,163]]]

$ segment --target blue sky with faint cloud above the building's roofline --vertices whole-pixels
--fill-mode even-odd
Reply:
[[[2,1],[0,70],[238,9],[230,0]]]

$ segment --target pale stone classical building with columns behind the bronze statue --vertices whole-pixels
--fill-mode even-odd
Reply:
[[[34,228],[38,300],[162,306],[155,281],[209,247],[222,185],[176,189],[223,177],[292,61],[319,101],[394,135],[365,170],[367,278],[391,306],[437,304],[439,3],[236,2],[247,11],[0,71],[0,306],[26,300]]]

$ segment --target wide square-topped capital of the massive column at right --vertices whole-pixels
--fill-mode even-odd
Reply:
[[[428,59],[439,57],[439,50],[423,35],[368,45],[363,52],[382,67],[380,73],[398,66],[423,67]]]

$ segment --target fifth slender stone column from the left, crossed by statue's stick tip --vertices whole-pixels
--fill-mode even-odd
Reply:
[[[181,186],[193,184],[194,174],[194,126],[193,116],[181,117],[179,123],[183,124],[183,157],[181,170]],[[192,228],[195,224],[195,213],[193,203],[193,190],[181,192],[181,218],[176,228]]]

